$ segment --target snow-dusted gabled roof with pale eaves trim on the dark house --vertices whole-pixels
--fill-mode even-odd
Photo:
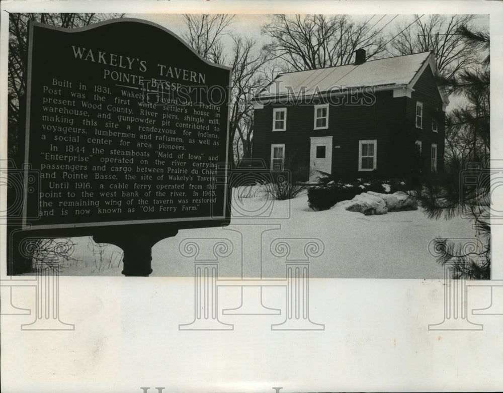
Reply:
[[[374,87],[376,90],[412,89],[419,76],[430,65],[434,74],[437,66],[431,52],[388,57],[370,60],[363,64],[348,64],[337,67],[320,68],[308,71],[287,72],[278,75],[256,96],[256,101],[263,102],[270,98],[289,95],[304,96],[326,91],[336,92],[339,88]],[[449,102],[439,89],[444,104]]]

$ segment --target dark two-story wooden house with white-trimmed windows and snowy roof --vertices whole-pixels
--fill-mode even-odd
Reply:
[[[253,157],[271,170],[398,177],[443,168],[448,99],[431,52],[280,74],[255,97]]]

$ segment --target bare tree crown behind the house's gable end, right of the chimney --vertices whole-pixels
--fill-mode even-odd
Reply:
[[[477,62],[474,48],[466,45],[458,32],[461,26],[470,25],[473,15],[431,15],[426,20],[415,15],[414,18],[417,22],[409,28],[398,24],[390,43],[392,54],[432,51],[437,68],[445,78],[452,78]]]

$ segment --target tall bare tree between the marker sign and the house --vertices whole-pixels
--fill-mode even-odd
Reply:
[[[205,59],[232,68],[230,100],[230,140],[236,161],[251,156],[253,146],[253,104],[255,92],[269,80],[265,65],[271,59],[253,39],[231,35],[226,28],[232,18],[226,15],[185,15],[188,32],[183,37]],[[229,35],[232,47],[225,51],[223,37]],[[227,58],[230,60],[227,61]]]

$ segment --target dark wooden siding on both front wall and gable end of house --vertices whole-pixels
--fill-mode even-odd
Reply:
[[[307,179],[310,137],[332,136],[332,174],[343,178],[370,176],[358,171],[359,141],[377,140],[377,169],[380,178],[407,174],[416,139],[423,143],[424,169],[431,165],[431,144],[438,146],[438,168],[444,149],[444,113],[431,69],[418,79],[412,98],[396,97],[393,92],[377,91],[373,105],[329,105],[328,128],[314,130],[314,106],[269,104],[255,110],[253,157],[264,159],[269,167],[271,144],[285,144],[285,166],[298,168]],[[423,102],[423,130],[415,128],[415,103]],[[273,109],[287,109],[286,131],[272,131]],[[438,133],[431,131],[431,119],[438,119]]]

